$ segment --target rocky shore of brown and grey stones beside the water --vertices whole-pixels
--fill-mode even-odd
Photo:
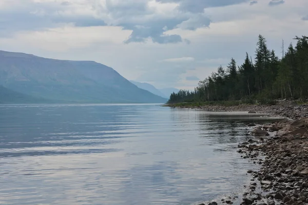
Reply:
[[[240,204],[308,205],[308,105],[282,101],[275,106],[202,106],[194,109],[247,111],[284,117],[285,120],[272,124],[247,125],[252,131],[251,139],[238,145],[237,152],[261,168],[258,171],[247,170],[247,174],[252,176],[251,183],[244,185],[247,192]],[[234,202],[222,199],[219,203]],[[208,203],[215,204],[218,203]]]

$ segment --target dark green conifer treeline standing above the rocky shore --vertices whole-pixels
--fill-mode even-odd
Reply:
[[[237,67],[235,59],[224,69],[218,67],[199,82],[195,91],[181,90],[170,95],[168,103],[189,101],[217,101],[240,99],[277,99],[308,97],[308,37],[295,37],[279,59],[269,50],[266,40],[259,35],[255,61],[246,58]]]

